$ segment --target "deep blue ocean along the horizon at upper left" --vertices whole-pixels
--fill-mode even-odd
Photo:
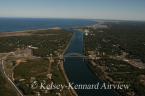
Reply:
[[[71,28],[95,24],[87,19],[0,18],[0,32],[14,32],[52,27]]]

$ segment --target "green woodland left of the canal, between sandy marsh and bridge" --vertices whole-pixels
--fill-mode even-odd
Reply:
[[[41,30],[30,33],[30,36],[0,37],[0,53],[32,45],[38,48],[33,50],[34,55],[45,57],[54,54],[54,51],[62,51],[72,36],[71,32],[64,30]]]

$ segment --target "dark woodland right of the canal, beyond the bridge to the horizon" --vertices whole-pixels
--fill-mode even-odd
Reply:
[[[139,58],[145,62],[144,22],[106,24],[108,29],[90,29],[95,35],[85,37],[86,50],[100,50],[109,55],[118,55],[125,51],[129,53],[130,58]]]

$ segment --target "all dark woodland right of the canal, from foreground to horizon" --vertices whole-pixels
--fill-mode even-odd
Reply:
[[[106,29],[88,28],[90,34],[84,37],[86,55],[88,51],[93,51],[96,55],[99,53],[98,56],[102,58],[95,60],[95,62],[98,66],[104,66],[105,73],[113,81],[131,84],[130,90],[121,92],[121,94],[124,93],[123,96],[133,96],[127,95],[126,92],[130,94],[135,92],[137,96],[144,96],[145,85],[141,83],[141,78],[144,77],[145,70],[109,57],[122,56],[123,58],[138,59],[145,63],[145,22],[126,21],[106,22],[105,24],[108,25]],[[126,53],[125,57],[123,52]],[[104,78],[102,76],[104,71],[99,69],[99,67],[92,67],[92,69],[99,77]],[[105,80],[108,81],[107,79]]]

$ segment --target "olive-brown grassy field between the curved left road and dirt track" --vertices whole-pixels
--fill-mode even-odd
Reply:
[[[48,70],[49,61],[46,59],[28,60],[19,64],[14,70],[15,79],[25,78],[29,80],[31,77],[46,76]],[[40,74],[40,75],[39,75]]]

